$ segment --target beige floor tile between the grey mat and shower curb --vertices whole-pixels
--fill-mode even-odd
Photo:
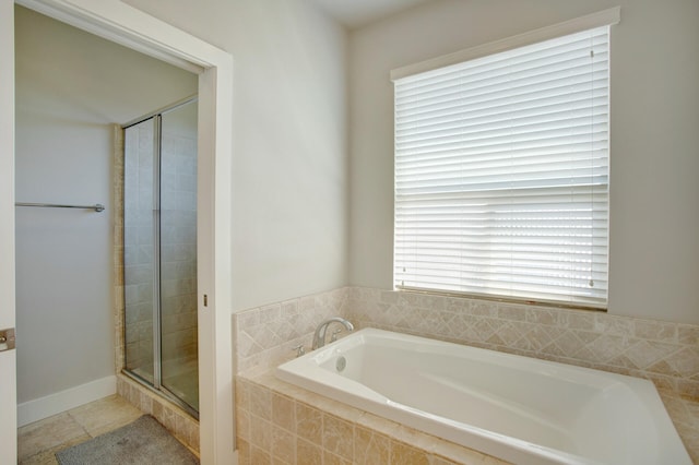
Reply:
[[[116,394],[73,408],[68,414],[93,438],[128,425],[143,415]]]

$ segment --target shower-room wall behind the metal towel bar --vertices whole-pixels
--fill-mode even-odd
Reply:
[[[17,402],[115,374],[110,123],[197,92],[197,76],[16,8]]]

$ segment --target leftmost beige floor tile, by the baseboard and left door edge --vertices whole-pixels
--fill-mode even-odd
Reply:
[[[55,415],[17,430],[17,458],[23,461],[81,437],[90,438],[68,413]]]

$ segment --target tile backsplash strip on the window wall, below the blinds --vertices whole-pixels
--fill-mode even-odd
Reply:
[[[355,325],[652,380],[699,398],[699,326],[604,312],[352,288]]]

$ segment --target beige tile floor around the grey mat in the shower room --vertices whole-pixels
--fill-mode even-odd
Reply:
[[[57,464],[56,452],[115,430],[143,413],[118,395],[75,407],[17,430],[22,465]]]

